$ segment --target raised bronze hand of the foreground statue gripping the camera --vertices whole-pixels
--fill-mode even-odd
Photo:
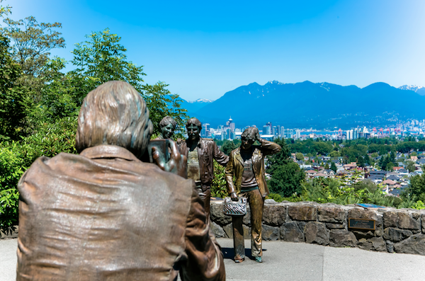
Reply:
[[[171,147],[171,157],[168,162],[165,161],[165,156],[162,151],[159,151],[156,147],[152,147],[152,158],[163,171],[175,173],[176,175],[186,178],[188,174],[186,156],[180,154],[176,142],[173,142],[171,139],[169,142]]]

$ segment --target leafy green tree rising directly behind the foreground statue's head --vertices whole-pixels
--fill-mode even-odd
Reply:
[[[120,44],[120,36],[111,33],[106,28],[101,32],[86,35],[85,42],[76,44],[72,51],[72,64],[77,69],[70,71],[69,76],[74,86],[75,103],[81,105],[89,91],[111,80],[126,81],[139,91],[149,108],[149,117],[154,125],[154,135],[161,132],[159,122],[166,115],[174,117],[177,122],[177,132],[184,127],[187,115],[181,108],[178,95],[171,95],[164,82],[154,85],[144,84],[142,66],[137,67],[128,62],[127,49]],[[177,134],[176,137],[182,137]]]

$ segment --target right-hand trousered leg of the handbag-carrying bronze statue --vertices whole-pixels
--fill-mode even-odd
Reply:
[[[261,246],[261,221],[263,220],[264,198],[258,189],[249,192],[249,208],[251,209],[251,252],[254,257],[263,256]]]

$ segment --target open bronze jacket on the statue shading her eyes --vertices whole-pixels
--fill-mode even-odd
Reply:
[[[252,153],[252,169],[255,179],[259,185],[259,191],[263,197],[269,193],[266,185],[266,177],[264,176],[264,156],[278,153],[282,148],[274,142],[268,142],[266,139],[261,139],[261,145],[253,145]],[[239,194],[241,191],[242,175],[244,173],[244,160],[242,159],[240,147],[234,149],[230,153],[229,163],[226,167],[226,183],[227,191],[230,193]],[[236,178],[236,185],[233,183],[233,176]]]

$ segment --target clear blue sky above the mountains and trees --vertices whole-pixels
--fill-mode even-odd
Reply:
[[[361,88],[425,86],[425,1],[6,0],[13,19],[62,23],[72,59],[84,35],[110,28],[145,81],[188,101],[277,80]]]

